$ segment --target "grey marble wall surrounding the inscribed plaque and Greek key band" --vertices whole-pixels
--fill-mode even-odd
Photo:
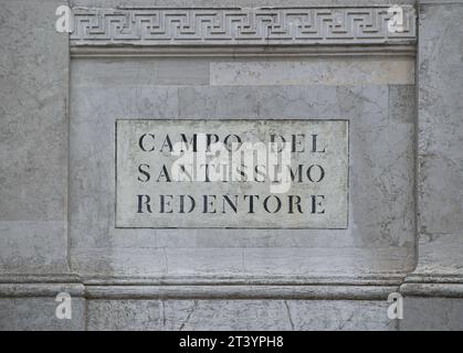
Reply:
[[[463,2],[400,1],[403,36],[251,49],[70,38],[62,3],[0,0],[1,330],[461,329]],[[371,6],[233,1],[282,4]],[[349,227],[116,228],[123,117],[347,119]]]

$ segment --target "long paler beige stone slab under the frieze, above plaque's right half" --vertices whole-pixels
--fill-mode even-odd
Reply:
[[[406,58],[337,57],[233,61],[210,64],[211,86],[269,85],[410,85],[414,61]]]

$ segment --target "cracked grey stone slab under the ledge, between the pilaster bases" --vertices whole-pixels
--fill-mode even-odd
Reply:
[[[396,330],[387,301],[91,300],[88,330]]]

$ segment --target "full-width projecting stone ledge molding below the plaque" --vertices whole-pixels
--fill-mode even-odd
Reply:
[[[288,299],[387,300],[404,297],[463,298],[460,274],[378,274],[368,276],[270,277],[105,277],[0,275],[0,298],[53,297],[59,292],[85,299]]]

